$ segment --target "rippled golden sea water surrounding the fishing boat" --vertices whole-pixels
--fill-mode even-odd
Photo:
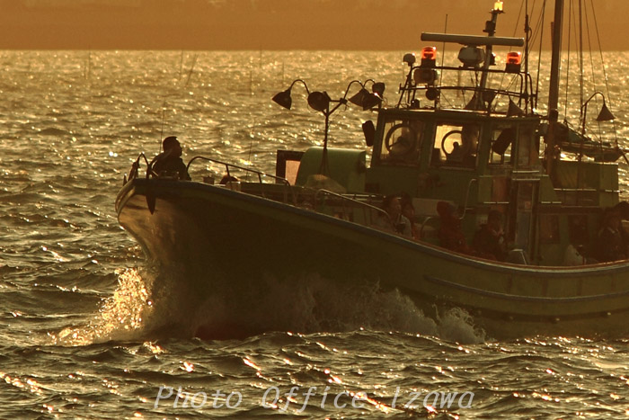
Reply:
[[[499,341],[463,311],[435,321],[397,291],[317,273],[290,290],[258,279],[264,304],[240,315],[256,334],[195,338],[208,318],[228,330],[231,303],[190,308],[185,279],[147,267],[120,228],[113,202],[139,152],[176,135],[187,158],[273,173],[277,149],[323,134],[301,85],[291,112],[273,94],[303,78],[336,98],[372,77],[394,103],[403,52],[0,52],[0,418],[629,416],[629,337]],[[607,76],[626,147],[629,54],[604,57],[586,94],[607,95]],[[339,110],[331,144],[363,148],[372,117]],[[168,299],[150,296],[156,280]]]

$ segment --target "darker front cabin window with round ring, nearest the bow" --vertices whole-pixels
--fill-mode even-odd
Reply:
[[[424,123],[394,120],[385,123],[380,161],[394,164],[417,165],[421,151]]]

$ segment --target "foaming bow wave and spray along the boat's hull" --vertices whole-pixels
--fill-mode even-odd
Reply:
[[[242,339],[272,331],[368,330],[436,336],[465,344],[486,339],[463,309],[449,308],[428,317],[399,290],[383,291],[375,283],[340,284],[317,274],[244,283],[246,287],[238,290],[216,287],[210,297],[199,300],[186,291],[185,279],[177,274],[127,270],[89,325],[66,328],[56,337],[62,343],[82,345],[193,336]]]

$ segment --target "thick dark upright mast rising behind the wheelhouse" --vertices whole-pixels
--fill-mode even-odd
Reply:
[[[554,2],[553,58],[551,61],[550,88],[548,91],[548,133],[546,135],[546,174],[553,178],[555,131],[559,120],[559,65],[562,55],[563,0]]]

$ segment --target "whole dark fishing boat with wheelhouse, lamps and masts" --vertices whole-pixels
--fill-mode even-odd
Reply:
[[[601,263],[587,251],[606,210],[619,205],[617,160],[625,157],[617,139],[590,136],[588,104],[602,96],[597,120],[613,115],[596,92],[578,126],[559,121],[563,0],[555,2],[548,111],[537,112],[530,31],[496,36],[502,8],[494,4],[483,36],[422,33],[430,46],[419,59],[403,57],[408,72],[390,106],[385,86],[373,80],[371,91],[369,82],[350,83],[340,99],[308,91],[325,120],[323,147],[279,150],[275,174],[195,156],[188,168],[221,165],[227,181],[182,181],[156,174],[141,154],[116,200],[120,225],[199,299],[219,288],[246,290],[263,276],[317,273],[356,288],[376,282],[400,290],[433,317],[463,308],[496,338],[626,334],[629,260]],[[459,66],[438,63],[434,45],[450,43],[460,47]],[[494,49],[507,48],[497,68]],[[306,85],[297,79],[273,100],[289,109],[297,84]],[[377,114],[362,126],[365,150],[328,147],[332,112],[348,103]],[[392,194],[409,197],[419,237],[396,232],[380,206]],[[445,210],[468,243],[498,211],[506,261],[444,247]],[[577,263],[567,265],[567,254]]]

